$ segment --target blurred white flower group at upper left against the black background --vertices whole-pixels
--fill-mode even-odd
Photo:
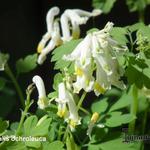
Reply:
[[[60,17],[60,26],[58,18],[55,16],[59,14],[59,8],[51,8],[46,16],[47,32],[44,34],[42,40],[38,44],[38,64],[43,64],[46,55],[52,51],[56,46],[61,45],[71,39],[77,39],[80,36],[79,25],[85,24],[90,17],[98,16],[100,10],[93,10],[87,12],[80,9],[67,9]],[[62,31],[62,35],[60,33]]]

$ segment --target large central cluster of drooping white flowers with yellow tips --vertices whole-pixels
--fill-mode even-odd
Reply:
[[[112,28],[113,23],[108,22],[104,29],[89,33],[71,54],[64,56],[65,60],[75,62],[75,93],[79,93],[81,89],[86,92],[94,90],[98,96],[110,89],[111,85],[125,88],[124,83],[120,81],[123,69],[119,66],[116,55],[126,51],[127,47],[112,39]]]

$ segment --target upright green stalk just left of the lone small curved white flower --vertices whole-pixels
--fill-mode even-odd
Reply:
[[[27,114],[30,106],[31,106],[31,103],[30,103],[30,93],[28,93],[27,94],[27,100],[26,100],[26,106],[25,106],[24,111],[22,112],[21,119],[20,119],[20,122],[19,122],[19,126],[18,126],[18,129],[16,131],[16,135],[17,136],[21,134],[21,128],[23,126],[26,114]]]

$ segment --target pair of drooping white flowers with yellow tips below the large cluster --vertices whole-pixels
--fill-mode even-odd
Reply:
[[[73,131],[76,125],[80,124],[80,117],[73,95],[67,90],[63,82],[58,86],[58,98],[56,98],[56,102],[58,103],[57,115],[64,117]]]

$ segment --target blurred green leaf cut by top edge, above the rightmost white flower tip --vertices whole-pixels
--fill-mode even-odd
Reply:
[[[93,0],[92,6],[101,9],[104,13],[109,13],[114,6],[116,0]]]

